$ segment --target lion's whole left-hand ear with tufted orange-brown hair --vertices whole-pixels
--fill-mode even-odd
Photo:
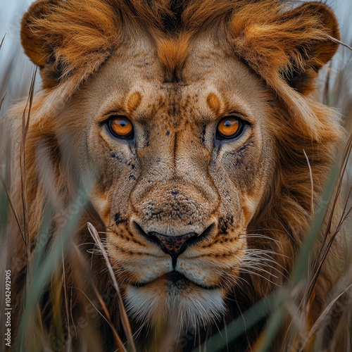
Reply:
[[[49,89],[99,68],[118,44],[119,29],[118,15],[102,1],[37,0],[23,16],[21,42]]]

